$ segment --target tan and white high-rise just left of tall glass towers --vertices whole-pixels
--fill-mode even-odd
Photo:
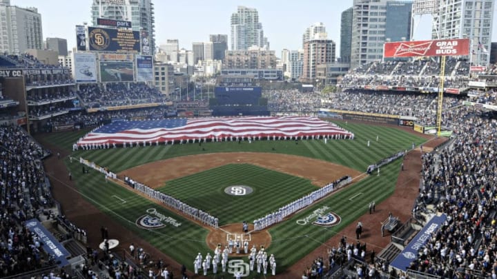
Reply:
[[[304,69],[301,80],[313,82],[316,77],[316,66],[335,61],[335,42],[327,39],[327,33],[315,34],[304,43]]]

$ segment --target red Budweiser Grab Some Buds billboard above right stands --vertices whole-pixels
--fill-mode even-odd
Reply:
[[[469,55],[469,39],[384,43],[383,57]]]

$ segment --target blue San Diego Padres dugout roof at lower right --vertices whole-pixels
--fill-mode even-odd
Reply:
[[[426,242],[431,238],[431,235],[438,231],[442,226],[442,223],[447,220],[447,216],[442,214],[441,216],[433,216],[431,220],[421,229],[418,234],[409,242],[409,244],[402,250],[398,256],[393,259],[391,266],[402,271],[406,271],[407,267],[411,265],[411,262],[418,257],[418,251]]]

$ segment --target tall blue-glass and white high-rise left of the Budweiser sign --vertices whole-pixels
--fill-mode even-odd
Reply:
[[[389,3],[389,5],[387,5]],[[351,39],[351,68],[356,68],[371,61],[379,61],[383,58],[383,44],[389,28],[392,34],[405,34],[408,38],[411,32],[411,11],[409,9],[398,10],[395,21],[398,25],[387,25],[387,6],[393,10],[405,1],[388,0],[353,0],[352,12],[352,39]]]

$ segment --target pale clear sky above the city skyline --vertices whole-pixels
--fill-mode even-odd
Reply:
[[[68,40],[76,45],[75,25],[90,23],[91,0],[10,0],[19,7],[35,7],[43,21],[43,38]],[[337,43],[340,53],[340,16],[352,6],[352,0],[153,0],[155,6],[155,41],[179,39],[179,48],[191,50],[192,42],[208,41],[209,34],[230,34],[230,18],[237,6],[256,8],[271,50],[302,48],[302,34],[312,23],[322,22],[328,37]],[[497,41],[497,5],[494,7],[492,41]],[[416,28],[413,39],[429,39],[428,17]]]

